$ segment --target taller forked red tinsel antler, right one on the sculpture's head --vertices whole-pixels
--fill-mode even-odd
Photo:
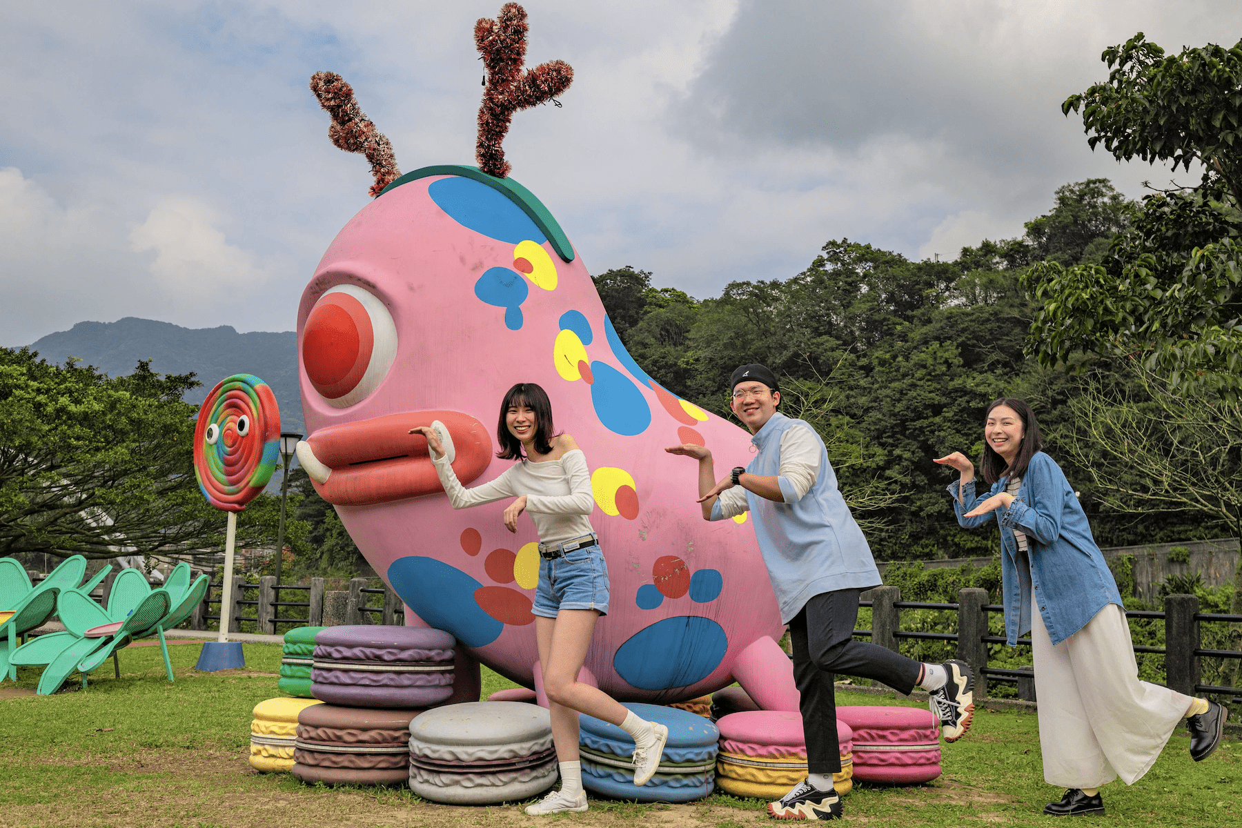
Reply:
[[[515,2],[504,4],[496,20],[479,17],[474,24],[474,46],[487,70],[474,159],[478,169],[498,179],[513,169],[501,146],[513,113],[555,98],[574,81],[574,70],[565,61],[540,63],[523,73],[527,29],[527,11]]]

